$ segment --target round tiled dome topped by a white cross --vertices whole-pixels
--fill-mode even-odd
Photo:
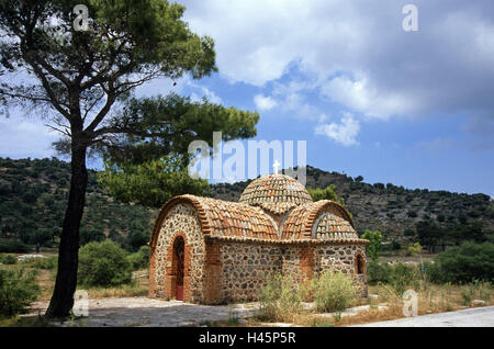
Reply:
[[[312,202],[312,198],[296,179],[285,174],[269,174],[250,182],[238,202],[279,215]]]

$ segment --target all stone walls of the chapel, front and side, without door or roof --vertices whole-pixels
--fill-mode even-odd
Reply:
[[[363,246],[204,237],[195,209],[180,203],[166,213],[151,252],[151,297],[175,299],[173,241],[179,236],[186,241],[186,302],[221,304],[251,301],[269,273],[282,272],[292,275],[296,282],[303,282],[324,270],[352,275],[361,294],[367,296]],[[362,274],[357,273],[358,260],[363,260]]]

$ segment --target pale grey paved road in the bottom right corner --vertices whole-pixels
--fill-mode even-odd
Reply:
[[[407,317],[353,327],[494,327],[494,306]]]

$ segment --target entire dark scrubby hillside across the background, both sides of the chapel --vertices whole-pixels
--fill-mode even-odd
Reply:
[[[89,171],[81,245],[110,237],[128,250],[148,241],[156,210],[114,202]],[[30,245],[56,246],[67,203],[70,167],[52,159],[0,158],[0,238],[19,238]],[[207,196],[237,201],[250,181],[210,187]],[[484,194],[461,194],[427,189],[405,189],[392,183],[363,182],[338,172],[307,167],[307,187],[336,187],[353,216],[359,234],[381,230],[385,240],[444,244],[430,236],[450,234],[458,243],[475,235],[492,236],[494,202]],[[425,224],[426,223],[426,224]],[[422,234],[422,235],[420,235]],[[487,237],[486,237],[487,236]]]

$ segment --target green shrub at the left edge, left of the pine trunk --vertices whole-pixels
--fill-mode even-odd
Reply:
[[[0,316],[23,313],[31,302],[36,301],[40,288],[35,278],[34,271],[0,269]]]

